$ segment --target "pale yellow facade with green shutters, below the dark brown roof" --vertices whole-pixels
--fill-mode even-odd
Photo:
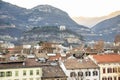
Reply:
[[[41,80],[42,68],[11,68],[0,69],[0,80]]]

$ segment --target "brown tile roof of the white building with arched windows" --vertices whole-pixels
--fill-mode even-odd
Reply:
[[[87,69],[87,68],[98,68],[98,66],[90,59],[67,59],[64,62],[67,69]]]

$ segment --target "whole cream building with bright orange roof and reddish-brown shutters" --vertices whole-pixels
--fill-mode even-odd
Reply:
[[[89,57],[100,67],[100,80],[120,80],[119,54],[100,54]]]

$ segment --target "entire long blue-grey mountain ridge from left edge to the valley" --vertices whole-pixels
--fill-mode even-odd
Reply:
[[[0,0],[0,35],[20,38],[26,35],[24,32],[31,31],[29,34],[34,32],[32,30],[34,27],[59,27],[61,25],[65,26],[67,30],[76,33],[74,36],[88,34],[90,31],[89,28],[73,21],[66,12],[53,6],[38,5],[32,9],[25,9]],[[41,29],[37,29],[41,31]],[[48,30],[46,30],[46,33],[51,34]],[[53,32],[57,34],[57,31]],[[38,33],[35,34],[38,35]],[[44,32],[41,31],[40,34],[42,35]],[[31,35],[27,35],[27,37],[30,38]]]

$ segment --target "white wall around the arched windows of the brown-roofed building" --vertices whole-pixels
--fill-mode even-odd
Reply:
[[[73,64],[74,65],[74,64]],[[67,80],[99,80],[100,78],[100,74],[99,74],[99,69],[71,69],[68,70],[65,68],[64,64],[62,61],[60,61],[60,67],[63,69],[63,71],[65,72],[66,76],[68,76]],[[83,77],[81,79],[81,77],[78,77],[78,72],[83,72]],[[90,71],[91,72],[91,76],[86,76],[85,72],[86,71]],[[98,75],[97,76],[93,76],[93,71],[97,71]],[[75,72],[77,74],[77,77],[70,77],[70,73],[71,72]]]

